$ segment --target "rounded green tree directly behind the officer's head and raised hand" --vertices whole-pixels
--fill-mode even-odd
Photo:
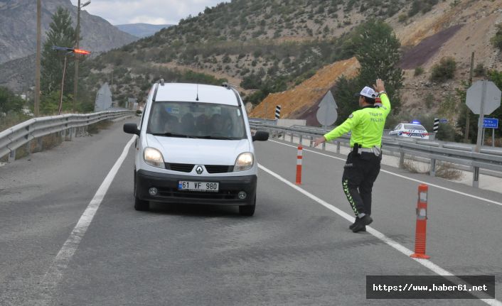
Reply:
[[[361,63],[358,77],[353,80],[341,78],[335,85],[335,99],[338,104],[338,124],[348,114],[358,109],[356,92],[365,86],[372,87],[375,80],[385,81],[393,111],[400,107],[399,89],[402,87],[400,42],[392,28],[380,20],[370,20],[358,26],[344,43],[344,52],[353,52]],[[346,113],[348,111],[348,113]]]

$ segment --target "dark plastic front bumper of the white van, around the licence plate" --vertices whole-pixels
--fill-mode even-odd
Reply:
[[[218,177],[193,177],[187,175],[173,175],[155,173],[146,170],[136,172],[137,197],[141,200],[186,203],[186,204],[215,204],[215,205],[252,205],[255,204],[256,175],[245,176],[218,176]],[[178,190],[181,180],[195,182],[218,182],[218,192],[200,192]],[[149,189],[155,187],[158,192],[150,195]],[[239,192],[246,192],[246,198],[240,200]]]

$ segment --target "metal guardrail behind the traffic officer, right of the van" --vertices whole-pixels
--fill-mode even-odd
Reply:
[[[329,130],[307,127],[307,126],[275,126],[265,123],[256,123],[250,119],[252,129],[269,131],[270,136],[286,140],[289,135],[290,142],[296,136],[303,141],[308,138],[312,144],[314,138],[324,135]],[[343,135],[331,143],[336,144],[336,152],[340,153],[340,146],[349,146],[350,135]],[[322,149],[326,149],[323,143]],[[484,147],[480,153],[474,152],[474,146],[466,143],[451,143],[445,141],[427,141],[416,138],[397,138],[396,136],[383,136],[382,149],[385,153],[397,153],[400,156],[399,166],[403,168],[405,154],[426,158],[430,160],[430,175],[435,175],[436,161],[441,160],[448,163],[469,166],[473,172],[476,168],[502,171],[502,148]],[[478,187],[479,180],[474,181],[473,186]]]

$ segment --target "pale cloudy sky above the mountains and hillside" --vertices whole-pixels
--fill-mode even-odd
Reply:
[[[78,0],[71,0],[77,6]],[[84,4],[87,0],[80,0]],[[178,24],[181,18],[196,16],[205,7],[223,0],[91,0],[82,10],[105,18],[113,25],[124,23]]]

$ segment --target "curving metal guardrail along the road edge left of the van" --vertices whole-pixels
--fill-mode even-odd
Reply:
[[[16,158],[16,150],[50,133],[63,132],[73,136],[77,128],[105,119],[117,119],[134,114],[134,111],[100,111],[92,114],[66,114],[29,119],[0,132],[0,158],[9,154],[9,161]],[[76,135],[75,135],[76,136]]]

